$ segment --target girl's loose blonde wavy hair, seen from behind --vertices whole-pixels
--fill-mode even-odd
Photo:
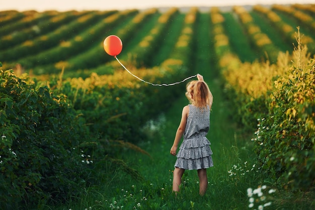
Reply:
[[[187,92],[185,93],[188,100],[196,107],[206,107],[211,109],[213,96],[204,81],[193,80],[186,85]]]

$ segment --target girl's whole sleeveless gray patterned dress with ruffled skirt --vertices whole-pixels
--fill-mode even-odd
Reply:
[[[176,155],[175,167],[187,170],[213,166],[210,142],[206,135],[210,127],[210,109],[189,104],[183,143]]]

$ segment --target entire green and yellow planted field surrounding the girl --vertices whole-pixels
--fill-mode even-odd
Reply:
[[[3,209],[315,208],[315,5],[3,11],[0,24]],[[172,192],[185,82],[139,81],[104,51],[109,35],[146,81],[209,84],[205,196],[196,171]]]

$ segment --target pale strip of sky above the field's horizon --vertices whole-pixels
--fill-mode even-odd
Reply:
[[[142,10],[161,7],[220,7],[258,4],[314,4],[314,0],[0,0],[0,11]]]

